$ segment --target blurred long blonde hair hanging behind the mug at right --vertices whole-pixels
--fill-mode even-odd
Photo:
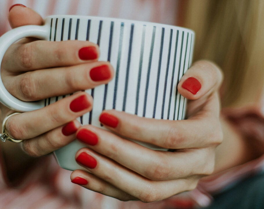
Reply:
[[[189,0],[185,14],[182,26],[196,32],[194,61],[212,60],[223,70],[222,105],[259,102],[264,83],[264,1]]]

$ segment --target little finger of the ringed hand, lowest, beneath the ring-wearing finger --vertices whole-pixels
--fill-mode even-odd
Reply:
[[[23,140],[22,148],[28,155],[33,157],[49,154],[75,140],[75,132],[80,126],[79,121],[73,120],[40,136]]]

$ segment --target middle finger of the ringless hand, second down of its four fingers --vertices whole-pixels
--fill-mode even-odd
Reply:
[[[91,125],[81,127],[76,134],[76,138],[87,147],[148,179],[171,180],[193,174],[207,175],[214,169],[214,154],[210,148],[185,149],[184,152],[157,151]]]

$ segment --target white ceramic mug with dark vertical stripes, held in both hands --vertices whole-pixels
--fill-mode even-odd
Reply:
[[[186,99],[178,93],[177,85],[191,65],[192,30],[125,19],[53,15],[46,18],[43,26],[22,26],[0,37],[0,63],[8,47],[23,37],[48,41],[89,40],[99,45],[99,60],[111,62],[116,70],[113,80],[86,90],[94,103],[93,110],[79,118],[82,124],[101,127],[98,118],[104,109],[147,118],[184,119]],[[24,102],[12,96],[0,79],[0,102],[16,111],[39,109],[66,96],[69,95]],[[82,147],[84,144],[75,140],[55,151],[59,165],[68,170],[82,168],[75,162],[75,153]]]

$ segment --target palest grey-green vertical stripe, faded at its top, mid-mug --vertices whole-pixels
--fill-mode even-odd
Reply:
[[[144,45],[145,45],[145,35],[146,35],[146,25],[143,25],[142,37],[141,37],[139,69],[138,69],[138,85],[137,85],[135,115],[138,114],[139,90],[140,90],[140,80],[141,80],[141,71],[142,71],[142,63],[143,63]]]

